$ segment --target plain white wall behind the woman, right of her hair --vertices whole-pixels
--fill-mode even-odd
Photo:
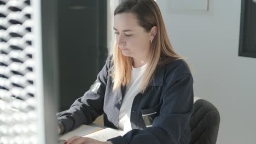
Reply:
[[[194,94],[220,112],[217,143],[256,143],[256,58],[238,57],[241,0],[209,0],[208,11],[157,0],[174,50],[194,68]]]

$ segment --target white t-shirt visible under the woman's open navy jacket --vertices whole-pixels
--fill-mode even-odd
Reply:
[[[141,82],[143,79],[143,71],[146,68],[146,65],[143,65],[139,68],[133,68],[132,67],[132,74],[131,74],[131,80],[129,85],[126,87],[123,103],[121,105],[120,111],[119,111],[119,121],[118,121],[118,127],[120,130],[123,131],[130,131],[131,128],[131,107],[133,103],[133,99],[140,91]]]

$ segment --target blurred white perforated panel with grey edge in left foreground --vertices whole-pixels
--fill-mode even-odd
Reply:
[[[0,0],[0,143],[57,143],[56,6]]]

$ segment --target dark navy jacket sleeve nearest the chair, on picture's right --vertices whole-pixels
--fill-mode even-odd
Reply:
[[[171,77],[171,78],[170,78]],[[191,113],[193,112],[193,77],[182,74],[167,79],[169,83],[162,89],[162,105],[159,116],[153,121],[152,127],[144,130],[133,129],[124,136],[114,137],[112,143],[178,143],[183,132],[188,130]],[[171,82],[170,82],[171,80]],[[190,132],[189,132],[190,136]],[[189,141],[186,137],[183,141]]]

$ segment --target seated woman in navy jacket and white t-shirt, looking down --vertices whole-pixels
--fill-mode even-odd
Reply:
[[[101,142],[74,136],[66,143],[189,143],[193,77],[172,49],[158,5],[129,0],[114,11],[113,56],[83,97],[57,118],[60,134],[104,115],[106,127],[127,133]]]

